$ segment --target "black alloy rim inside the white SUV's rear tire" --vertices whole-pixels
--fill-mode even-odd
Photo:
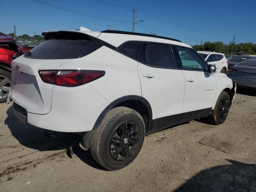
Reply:
[[[122,122],[112,134],[109,151],[114,160],[128,159],[138,147],[141,133],[138,124],[134,121]]]

